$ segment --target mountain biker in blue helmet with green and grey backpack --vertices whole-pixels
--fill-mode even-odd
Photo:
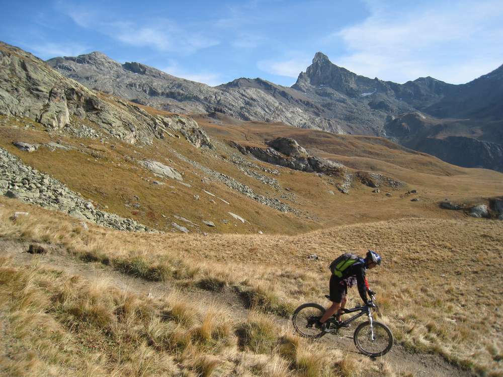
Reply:
[[[367,268],[374,268],[381,264],[381,257],[373,250],[368,250],[365,258],[360,258],[355,254],[346,253],[335,259],[330,264],[330,301],[332,305],[325,310],[325,314],[317,322],[317,327],[327,331],[325,322],[337,312],[337,321],[341,323],[341,315],[346,305],[346,294],[348,287],[354,284],[354,279],[358,285],[358,292],[365,305],[371,304],[367,298],[367,292],[373,296],[374,292],[369,289],[365,271]]]

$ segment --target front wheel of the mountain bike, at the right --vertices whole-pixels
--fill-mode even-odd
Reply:
[[[385,324],[377,321],[372,322],[372,329],[370,321],[358,325],[353,338],[360,352],[370,357],[382,356],[388,353],[393,346],[391,330]]]

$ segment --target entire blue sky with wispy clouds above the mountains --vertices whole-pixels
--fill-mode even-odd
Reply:
[[[42,59],[101,51],[217,85],[292,85],[322,51],[368,77],[464,83],[503,64],[503,0],[2,0],[0,40]]]

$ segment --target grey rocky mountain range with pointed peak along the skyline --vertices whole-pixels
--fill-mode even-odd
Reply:
[[[48,64],[90,88],[163,110],[385,136],[448,162],[501,170],[503,66],[462,85],[432,77],[398,84],[357,75],[318,52],[292,87],[260,78],[210,87],[141,63],[120,64],[99,52]],[[459,138],[470,140],[460,144]],[[460,145],[472,145],[482,155],[467,161]]]

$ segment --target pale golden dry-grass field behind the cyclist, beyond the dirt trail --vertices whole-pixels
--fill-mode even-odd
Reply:
[[[82,233],[78,226],[52,218],[34,220],[32,225],[23,226],[19,222],[10,234],[33,238],[36,232],[35,238],[59,240],[67,247],[78,245],[82,250],[98,248],[105,255],[117,258],[129,255],[127,249],[132,247],[135,256],[142,250],[142,258],[156,263],[160,257],[180,258],[183,255],[185,262],[192,265],[187,250],[201,250],[198,257],[207,260],[205,272],[198,275],[201,273],[198,271],[194,275],[198,280],[192,278],[192,284],[201,284],[203,278],[209,278],[220,281],[216,287],[225,287],[232,281],[248,279],[249,286],[257,283],[267,289],[274,285],[273,297],[280,302],[286,298],[312,301],[326,291],[323,262],[307,265],[305,255],[311,250],[302,245],[310,245],[327,263],[334,249],[355,251],[363,244],[373,245],[385,250],[386,264],[379,274],[369,279],[373,287],[378,287],[379,303],[385,313],[383,320],[393,328],[397,339],[411,350],[439,352],[448,360],[480,374],[497,376],[501,373],[497,364],[502,354],[498,345],[501,335],[497,332],[501,314],[486,309],[497,305],[494,297],[497,297],[499,286],[497,282],[494,284],[494,278],[501,280],[501,276],[493,264],[485,262],[487,255],[502,255],[503,224],[499,222],[418,219],[338,227],[298,237],[260,239],[253,236],[133,237],[98,227]],[[261,248],[254,246],[259,244]],[[170,245],[170,249],[161,245]],[[400,250],[404,246],[406,251]],[[276,265],[266,268],[265,255],[271,256],[269,250],[274,250],[273,263]],[[252,264],[254,267],[250,270]],[[446,273],[449,278],[442,278]],[[477,274],[476,280],[472,278],[473,273]],[[217,275],[220,277],[215,279]],[[469,315],[464,309],[477,305],[480,310]]]

